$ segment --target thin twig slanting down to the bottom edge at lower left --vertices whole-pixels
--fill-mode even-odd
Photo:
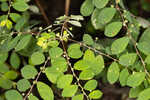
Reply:
[[[48,63],[49,59],[50,59],[50,58],[48,57],[48,58],[47,58],[47,60],[46,60],[46,61],[45,61],[45,63],[44,63],[43,68],[45,68],[45,66],[46,66],[46,64]],[[23,99],[23,100],[26,100],[26,99],[27,99],[27,97],[30,95],[30,93],[32,92],[33,87],[34,87],[34,86],[35,86],[35,84],[38,82],[38,79],[39,79],[39,77],[40,77],[41,73],[42,73],[42,70],[40,70],[40,72],[38,73],[38,75],[37,75],[36,79],[34,80],[34,82],[33,82],[32,86],[30,87],[30,90],[28,91],[28,93],[26,94],[26,96],[24,97],[24,99]]]

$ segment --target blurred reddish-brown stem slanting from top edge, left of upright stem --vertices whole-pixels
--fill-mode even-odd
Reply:
[[[46,15],[46,13],[45,13],[43,7],[41,6],[40,1],[39,1],[39,0],[35,0],[35,2],[36,2],[36,4],[37,4],[37,6],[39,7],[40,12],[42,13],[42,15],[43,15],[43,17],[44,17],[44,20],[46,21],[46,23],[47,23],[48,25],[50,25],[50,21],[49,21],[47,15]]]

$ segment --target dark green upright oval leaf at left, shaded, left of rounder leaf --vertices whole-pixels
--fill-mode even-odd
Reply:
[[[13,52],[10,56],[10,64],[13,68],[18,69],[20,66],[20,58],[17,53]]]

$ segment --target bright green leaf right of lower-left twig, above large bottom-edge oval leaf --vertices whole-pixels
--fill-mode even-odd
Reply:
[[[45,74],[46,74],[48,80],[51,81],[52,83],[56,83],[58,78],[60,76],[63,76],[63,73],[60,72],[59,70],[55,69],[54,67],[46,68]]]

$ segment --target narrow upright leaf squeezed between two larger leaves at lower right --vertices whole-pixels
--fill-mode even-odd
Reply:
[[[119,81],[121,86],[125,86],[127,84],[127,79],[129,76],[129,72],[127,68],[124,68],[121,72],[120,72],[120,77],[119,77]]]

